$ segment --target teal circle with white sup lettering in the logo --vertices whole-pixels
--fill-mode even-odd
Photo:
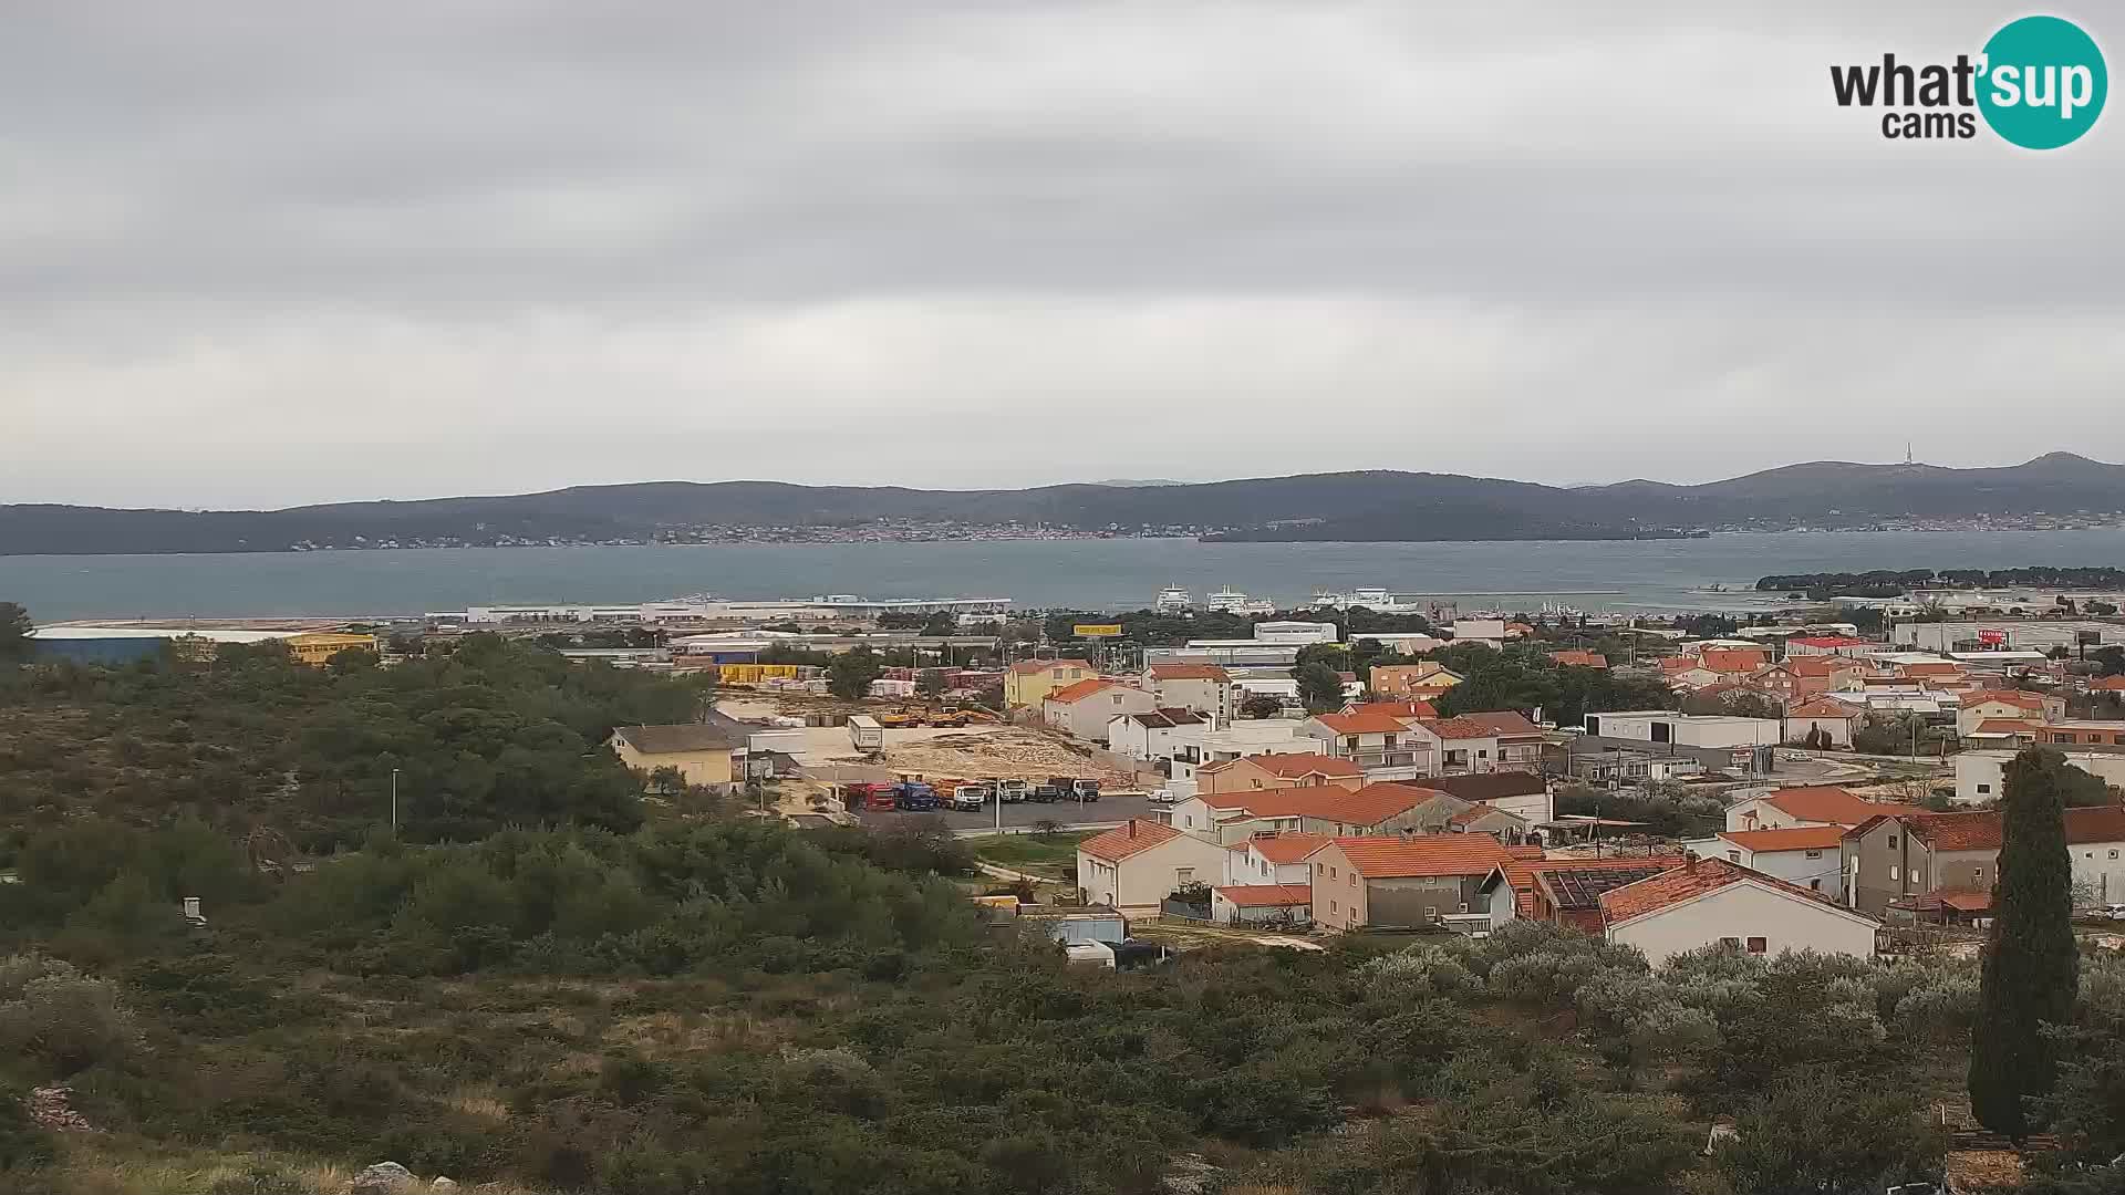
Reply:
[[[2110,94],[2104,51],[2080,26],[2023,17],[1985,43],[1978,111],[2023,149],[2059,149],[2095,125]]]

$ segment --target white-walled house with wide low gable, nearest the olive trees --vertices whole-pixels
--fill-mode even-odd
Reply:
[[[1600,893],[1602,931],[1662,965],[1702,946],[1749,955],[1819,950],[1874,957],[1878,923],[1728,859],[1689,859]]]

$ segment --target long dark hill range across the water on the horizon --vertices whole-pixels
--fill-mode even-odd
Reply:
[[[1213,483],[901,489],[652,481],[546,493],[340,502],[285,510],[0,506],[0,555],[230,553],[298,546],[652,540],[884,521],[1048,525],[1218,540],[1611,540],[1698,527],[1857,527],[2125,510],[2125,468],[2051,453],[2008,468],[1813,461],[1715,481],[1551,487],[1432,472],[1328,472]]]

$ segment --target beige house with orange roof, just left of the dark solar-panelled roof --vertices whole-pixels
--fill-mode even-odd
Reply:
[[[1513,855],[1481,834],[1337,838],[1313,853],[1313,921],[1328,929],[1434,925],[1475,910]]]

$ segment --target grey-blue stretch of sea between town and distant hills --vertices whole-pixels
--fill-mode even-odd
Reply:
[[[1315,589],[1585,610],[1721,610],[1772,572],[2125,566],[2125,529],[1779,532],[1708,540],[1481,544],[1201,544],[1007,540],[423,549],[251,555],[0,557],[0,600],[38,621],[380,617],[508,602],[722,598],[1012,598],[1024,608],[1141,608],[1164,585],[1286,604]],[[1717,593],[1726,585],[1742,593]]]

